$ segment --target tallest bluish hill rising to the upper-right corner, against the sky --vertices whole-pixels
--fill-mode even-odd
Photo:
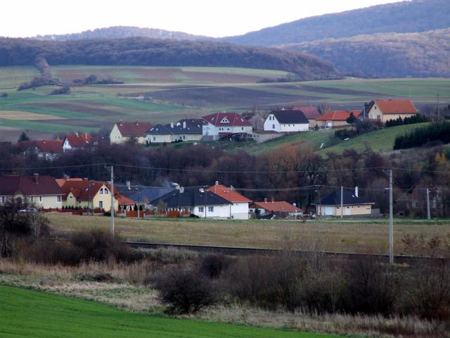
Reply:
[[[425,32],[450,27],[449,0],[413,0],[304,18],[223,40],[272,46],[385,32]]]

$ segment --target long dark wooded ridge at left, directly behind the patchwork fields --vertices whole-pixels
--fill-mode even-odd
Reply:
[[[297,51],[131,37],[65,42],[0,38],[0,65],[168,65],[285,70],[298,80],[340,78],[333,65]]]

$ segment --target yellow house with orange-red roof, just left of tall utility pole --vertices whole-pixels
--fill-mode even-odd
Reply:
[[[56,182],[63,192],[63,206],[111,210],[111,189],[107,182],[87,178],[62,178]],[[115,210],[119,206],[119,197],[115,195],[114,198]]]

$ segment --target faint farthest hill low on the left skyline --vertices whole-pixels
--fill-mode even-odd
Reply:
[[[174,40],[205,40],[212,39],[200,35],[191,35],[184,32],[171,32],[169,30],[158,30],[155,28],[141,28],[131,26],[113,26],[97,28],[96,30],[85,30],[81,33],[61,34],[61,35],[37,35],[32,39],[38,40],[81,40],[81,39],[123,39],[126,37],[149,37],[152,39],[174,39]]]

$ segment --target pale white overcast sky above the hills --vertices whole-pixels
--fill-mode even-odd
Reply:
[[[7,0],[0,36],[65,34],[116,25],[224,37],[312,15],[398,0]]]

